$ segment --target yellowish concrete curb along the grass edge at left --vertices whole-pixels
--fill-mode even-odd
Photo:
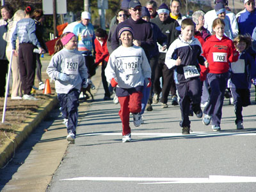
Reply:
[[[28,138],[29,134],[33,131],[33,129],[42,122],[42,120],[46,117],[46,115],[51,112],[52,108],[54,108],[58,104],[57,96],[52,96],[49,101],[46,101],[41,107],[36,110],[35,113],[31,114],[28,119],[31,121],[26,121],[24,124],[21,124],[20,128],[17,129],[17,135],[15,137],[10,138],[4,142],[3,147],[0,149],[0,168],[2,168],[9,159],[12,158],[13,153],[19,147],[26,138]]]

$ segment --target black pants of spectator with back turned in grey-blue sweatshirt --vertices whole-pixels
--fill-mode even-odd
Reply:
[[[31,94],[35,81],[36,54],[33,52],[35,46],[32,43],[19,45],[19,66],[21,88],[24,94]]]

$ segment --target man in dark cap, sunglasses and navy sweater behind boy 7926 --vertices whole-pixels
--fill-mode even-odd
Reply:
[[[153,31],[150,24],[141,18],[141,4],[138,0],[132,0],[129,3],[129,13],[131,17],[118,24],[116,31],[111,37],[111,47],[115,50],[119,47],[118,31],[124,26],[131,26],[134,31],[133,45],[142,47],[149,57],[149,51],[154,48]]]

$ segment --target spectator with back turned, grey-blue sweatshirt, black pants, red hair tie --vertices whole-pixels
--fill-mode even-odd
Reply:
[[[24,91],[24,100],[36,100],[31,95],[31,89],[35,81],[36,55],[34,48],[39,48],[39,54],[44,54],[45,50],[36,38],[35,21],[31,18],[34,9],[27,6],[26,17],[17,22],[17,26],[12,35],[12,48],[14,55],[18,55],[16,51],[16,40],[19,38],[19,66],[21,75],[21,86]]]

